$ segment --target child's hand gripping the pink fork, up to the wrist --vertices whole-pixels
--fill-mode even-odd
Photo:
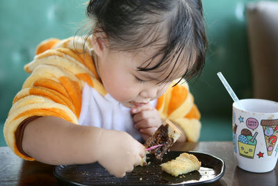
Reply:
[[[98,162],[111,174],[125,176],[145,157],[145,147],[126,132],[103,130],[99,137]]]

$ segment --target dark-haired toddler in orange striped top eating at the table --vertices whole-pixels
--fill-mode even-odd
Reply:
[[[179,141],[197,141],[200,114],[183,79],[204,67],[201,1],[91,0],[87,15],[87,36],[45,40],[24,67],[8,146],[25,160],[99,162],[122,177],[165,118],[183,131]]]

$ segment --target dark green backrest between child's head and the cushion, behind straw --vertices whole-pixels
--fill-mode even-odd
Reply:
[[[231,115],[233,101],[217,72],[222,72],[238,98],[252,97],[244,13],[247,2],[203,1],[209,47],[204,72],[191,86],[203,115]]]

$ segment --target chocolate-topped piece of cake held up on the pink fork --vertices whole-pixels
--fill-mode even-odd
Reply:
[[[155,155],[156,159],[162,160],[163,155],[180,136],[181,131],[169,120],[166,120],[163,125],[158,127],[156,132],[154,132],[154,135],[147,139],[144,146],[145,148],[149,148],[162,144],[163,146],[155,148],[154,150],[149,150],[149,153]]]

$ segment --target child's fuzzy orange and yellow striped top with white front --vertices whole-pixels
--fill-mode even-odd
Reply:
[[[79,125],[93,125],[129,132],[138,139],[129,108],[114,100],[105,90],[92,61],[90,38],[58,40],[51,38],[38,45],[35,58],[25,65],[31,73],[15,95],[4,125],[6,143],[20,153],[15,132],[22,121],[31,116],[57,116]],[[170,86],[166,93],[151,102],[161,118],[179,125],[188,141],[197,141],[201,130],[200,114],[188,84]]]

